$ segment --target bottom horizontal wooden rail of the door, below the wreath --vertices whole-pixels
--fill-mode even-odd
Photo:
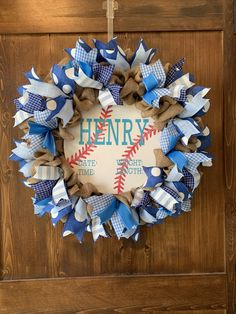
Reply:
[[[224,274],[122,276],[0,283],[1,313],[222,310]]]

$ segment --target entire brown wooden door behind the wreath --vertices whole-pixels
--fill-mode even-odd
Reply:
[[[17,165],[8,160],[12,139],[20,135],[12,128],[12,100],[17,96],[16,87],[25,82],[23,72],[32,65],[45,76],[65,55],[63,48],[73,47],[79,35],[88,41],[94,37],[106,40],[105,12],[101,0],[8,4],[0,0],[0,305],[2,302],[5,313],[12,313],[17,306],[19,313],[24,313],[26,304],[25,313],[34,313],[35,307],[42,313],[112,313],[118,309],[123,313],[193,314],[224,313],[227,307],[233,313],[233,1],[118,2],[115,29],[122,47],[134,48],[143,37],[149,46],[158,48],[163,62],[186,57],[186,71],[194,73],[198,84],[211,87],[212,106],[204,121],[212,131],[214,166],[204,169],[192,212],[144,228],[138,243],[100,239],[94,245],[87,236],[81,245],[73,237],[62,239],[61,226],[54,229],[47,217],[34,216],[32,194],[20,182]],[[32,281],[37,278],[45,279]],[[124,291],[119,295],[116,289]],[[58,297],[61,291],[67,301]],[[77,294],[81,303],[74,300]],[[132,295],[136,298],[131,301]]]

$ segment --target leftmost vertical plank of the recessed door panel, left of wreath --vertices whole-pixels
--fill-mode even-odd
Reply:
[[[52,249],[55,246],[50,247],[49,240],[54,228],[47,223],[47,217],[39,219],[33,214],[32,192],[20,182],[23,177],[17,164],[8,160],[13,139],[22,136],[13,128],[13,99],[18,97],[16,86],[26,83],[23,73],[32,65],[44,76],[50,63],[48,35],[1,36],[1,277],[5,279],[53,275]]]

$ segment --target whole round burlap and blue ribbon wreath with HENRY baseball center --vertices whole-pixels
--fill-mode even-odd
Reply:
[[[49,213],[53,225],[61,221],[63,236],[82,241],[91,232],[94,241],[112,234],[137,241],[142,225],[191,210],[197,168],[212,159],[201,120],[209,89],[184,74],[184,59],[165,66],[152,61],[156,50],[143,40],[134,53],[124,52],[116,39],[94,40],[94,46],[79,39],[76,48],[66,49],[71,59],[53,65],[46,82],[34,69],[26,73],[29,84],[18,89],[14,116],[24,136],[10,158],[35,191],[35,214]],[[79,148],[71,151],[75,142]],[[123,153],[113,173],[109,162],[116,150]],[[93,184],[98,160],[101,186]]]

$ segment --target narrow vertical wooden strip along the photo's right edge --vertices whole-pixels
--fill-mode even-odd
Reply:
[[[234,3],[224,0],[224,150],[226,183],[226,266],[229,313],[236,311],[236,37]]]

